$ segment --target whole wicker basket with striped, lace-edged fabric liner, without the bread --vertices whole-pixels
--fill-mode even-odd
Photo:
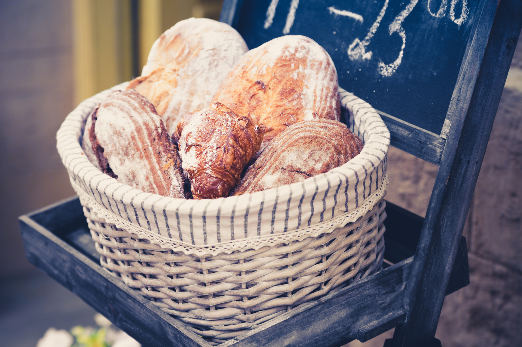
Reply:
[[[339,89],[364,142],[345,165],[253,194],[176,200],[104,175],[81,148],[92,109],[125,88],[82,102],[56,139],[101,265],[128,287],[219,344],[381,269],[390,138],[370,104]]]

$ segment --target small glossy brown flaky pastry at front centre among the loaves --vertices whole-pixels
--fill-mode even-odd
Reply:
[[[251,118],[213,102],[183,122],[180,155],[194,199],[227,196],[259,150],[263,133]]]

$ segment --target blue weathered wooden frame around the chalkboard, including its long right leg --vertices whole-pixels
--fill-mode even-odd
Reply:
[[[234,27],[242,3],[225,0],[220,20]],[[387,346],[430,345],[434,340],[471,196],[522,27],[519,0],[484,0],[478,6],[480,16],[472,26],[441,134],[379,111],[392,134],[392,145],[440,166],[401,306],[406,318]]]

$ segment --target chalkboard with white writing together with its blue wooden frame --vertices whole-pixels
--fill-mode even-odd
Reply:
[[[453,290],[448,282],[469,201],[522,26],[519,0],[430,4],[261,0],[238,3],[231,21],[251,48],[287,33],[316,40],[333,58],[340,85],[383,116],[393,144],[440,165],[405,293],[408,315],[396,329],[394,346],[435,341],[444,294]],[[371,26],[366,18],[379,19]],[[383,27],[388,29],[384,34],[379,32]],[[375,30],[361,39],[361,28]],[[397,53],[397,36],[400,64],[385,70],[393,61],[387,54]],[[465,271],[467,259],[459,260]]]

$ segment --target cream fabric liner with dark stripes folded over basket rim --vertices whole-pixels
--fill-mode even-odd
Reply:
[[[247,193],[213,200],[174,199],[134,189],[102,173],[89,162],[80,146],[85,119],[90,111],[112,91],[125,89],[127,83],[116,85],[80,103],[67,116],[60,130],[58,130],[57,148],[78,194],[90,197],[114,217],[118,217],[119,214],[120,219],[128,220],[131,224],[129,226],[134,230],[145,231],[153,235],[157,234],[178,243],[182,242],[193,246],[224,243],[240,238],[246,239],[251,236],[259,236],[259,231],[261,231],[261,236],[284,233],[304,226],[313,226],[358,209],[368,196],[371,196],[382,186],[386,172],[389,131],[370,104],[339,88],[341,105],[348,109],[349,128],[362,138],[364,148],[361,154],[338,168],[298,183],[252,194]],[[337,187],[335,187],[336,184]],[[354,192],[348,191],[348,185],[351,185],[350,189],[354,189]],[[345,188],[344,192],[342,188]],[[312,197],[314,190],[315,194]],[[343,193],[346,195],[346,199]],[[320,197],[315,199],[317,194]],[[349,194],[351,195],[349,196]],[[302,206],[301,204],[298,206],[300,195],[302,195],[302,202],[306,195]],[[270,206],[263,210],[265,202]],[[343,203],[344,205],[342,205]],[[274,205],[273,208],[271,204]],[[298,218],[302,216],[302,219],[305,219],[303,226],[301,226],[301,221],[299,225],[295,221],[294,216],[297,215],[298,209]],[[317,211],[315,214],[314,210]],[[331,217],[328,215],[329,210],[331,210]],[[219,213],[221,214],[219,215]],[[361,215],[364,213],[365,210],[361,211]],[[323,216],[323,214],[326,215]],[[154,216],[154,220],[152,220],[151,215]],[[160,220],[163,217],[162,215],[164,221]],[[259,220],[263,219],[260,228],[257,215],[259,215]],[[232,234],[216,239],[216,225],[209,224],[207,229],[212,235],[209,234],[207,240],[207,235],[202,235],[199,232],[203,229],[203,234],[205,234],[205,226],[201,228],[201,225],[205,222],[205,217],[210,219],[210,217],[216,216],[221,217],[222,230],[226,229],[226,232],[229,232],[229,229],[231,229]],[[236,216],[235,219],[234,216]],[[243,216],[244,222],[240,220]],[[203,219],[203,222],[201,222],[201,219]],[[224,224],[228,219],[231,221]],[[244,234],[242,233],[242,224],[244,224]],[[218,232],[219,227],[218,225]],[[234,229],[238,230],[235,235],[233,234]],[[212,237],[215,239],[211,240]],[[188,240],[190,241],[187,242]]]

